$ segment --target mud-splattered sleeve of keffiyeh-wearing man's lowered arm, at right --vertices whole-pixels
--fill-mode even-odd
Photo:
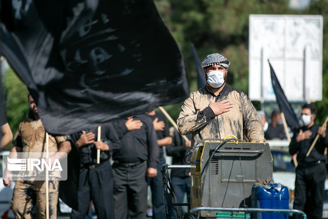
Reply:
[[[257,115],[256,109],[245,93],[242,93],[240,98],[242,102],[241,109],[244,134],[249,142],[264,142],[263,126]]]

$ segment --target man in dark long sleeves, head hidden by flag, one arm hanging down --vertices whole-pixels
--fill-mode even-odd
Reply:
[[[115,219],[144,219],[146,176],[157,175],[158,145],[154,126],[147,115],[119,120],[113,125],[122,143],[122,150],[113,154]]]

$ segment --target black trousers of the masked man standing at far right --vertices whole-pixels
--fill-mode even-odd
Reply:
[[[295,180],[294,209],[302,210],[308,219],[321,219],[323,207],[323,189],[326,179],[324,162],[304,168],[297,166]],[[294,218],[303,218],[294,214]]]

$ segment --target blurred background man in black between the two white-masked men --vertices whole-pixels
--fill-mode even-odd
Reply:
[[[284,126],[281,123],[281,115],[278,111],[272,111],[271,113],[271,123],[268,125],[267,131],[264,133],[264,137],[267,140],[272,139],[285,139]],[[264,128],[263,128],[264,129]]]

